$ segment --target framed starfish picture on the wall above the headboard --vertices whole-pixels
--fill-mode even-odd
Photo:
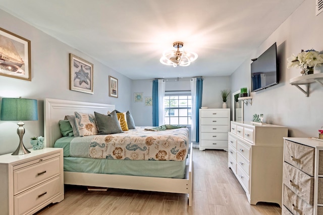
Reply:
[[[93,94],[93,64],[70,53],[70,90]]]

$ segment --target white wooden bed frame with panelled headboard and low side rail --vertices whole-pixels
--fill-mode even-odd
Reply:
[[[62,136],[59,120],[65,115],[74,115],[74,111],[82,113],[102,113],[115,110],[115,105],[88,102],[67,101],[58,99],[44,100],[44,137],[45,147],[53,147],[55,141]],[[158,178],[127,175],[110,175],[96,173],[64,172],[64,183],[94,187],[110,187],[132,190],[147,190],[171,193],[187,193],[188,205],[192,206],[193,160],[192,144],[189,159],[186,163],[184,179]]]

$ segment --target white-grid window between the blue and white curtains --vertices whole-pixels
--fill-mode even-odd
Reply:
[[[166,92],[165,104],[165,124],[190,125],[192,123],[191,107],[192,97],[190,94],[171,94]],[[176,92],[175,92],[176,93]],[[178,93],[178,92],[177,92]]]

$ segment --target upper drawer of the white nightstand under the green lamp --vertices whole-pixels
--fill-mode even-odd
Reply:
[[[14,171],[14,195],[60,174],[60,158],[52,158]],[[37,160],[39,162],[39,160]]]

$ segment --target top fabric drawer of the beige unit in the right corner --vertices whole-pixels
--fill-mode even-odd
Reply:
[[[314,176],[314,148],[285,140],[284,161]]]

